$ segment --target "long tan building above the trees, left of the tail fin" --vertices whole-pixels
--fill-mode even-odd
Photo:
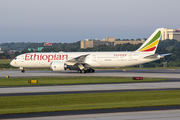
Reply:
[[[85,41],[81,41],[81,48],[92,48],[98,45],[104,45],[106,44],[107,46],[116,46],[117,44],[139,44],[139,43],[144,43],[144,40],[141,41],[115,41],[115,37],[106,37],[103,40],[88,40],[86,39]]]

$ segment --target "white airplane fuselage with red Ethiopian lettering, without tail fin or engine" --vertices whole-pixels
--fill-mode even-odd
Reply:
[[[38,52],[19,55],[10,64],[22,68],[45,68],[50,67],[51,62],[65,63],[81,55],[87,55],[84,60],[85,68],[126,67],[160,59],[145,59],[151,54],[140,52]]]

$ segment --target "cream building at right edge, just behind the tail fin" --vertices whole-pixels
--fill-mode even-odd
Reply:
[[[167,29],[165,28],[162,33],[162,40],[174,39],[180,41],[180,29]]]

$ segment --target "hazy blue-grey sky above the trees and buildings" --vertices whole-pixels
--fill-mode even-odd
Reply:
[[[0,0],[0,43],[148,38],[180,28],[180,0]]]

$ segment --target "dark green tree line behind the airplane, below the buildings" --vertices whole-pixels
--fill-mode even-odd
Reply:
[[[13,43],[14,44],[14,43]],[[19,43],[18,43],[19,44]],[[23,43],[25,45],[25,43]],[[2,59],[3,56],[6,56],[8,59],[12,59],[13,57],[28,53],[28,52],[34,52],[33,50],[28,51],[28,48],[35,48],[35,47],[41,47],[44,43],[27,43],[27,46],[21,51],[17,51],[14,54],[8,54],[7,49],[4,50],[4,53],[0,54],[0,59]],[[44,47],[40,52],[94,52],[94,51],[135,51],[137,50],[142,44],[118,44],[114,47],[107,46],[107,45],[99,45],[93,48],[86,48],[81,49],[80,48],[80,41],[75,43],[53,43],[52,47]],[[169,67],[180,67],[180,41],[177,40],[164,40],[159,42],[159,46],[156,50],[157,54],[165,54],[165,53],[172,53],[172,55],[165,57],[164,59],[157,60],[155,62],[150,62],[147,64],[144,64],[145,67],[162,67],[163,61],[168,62]]]

